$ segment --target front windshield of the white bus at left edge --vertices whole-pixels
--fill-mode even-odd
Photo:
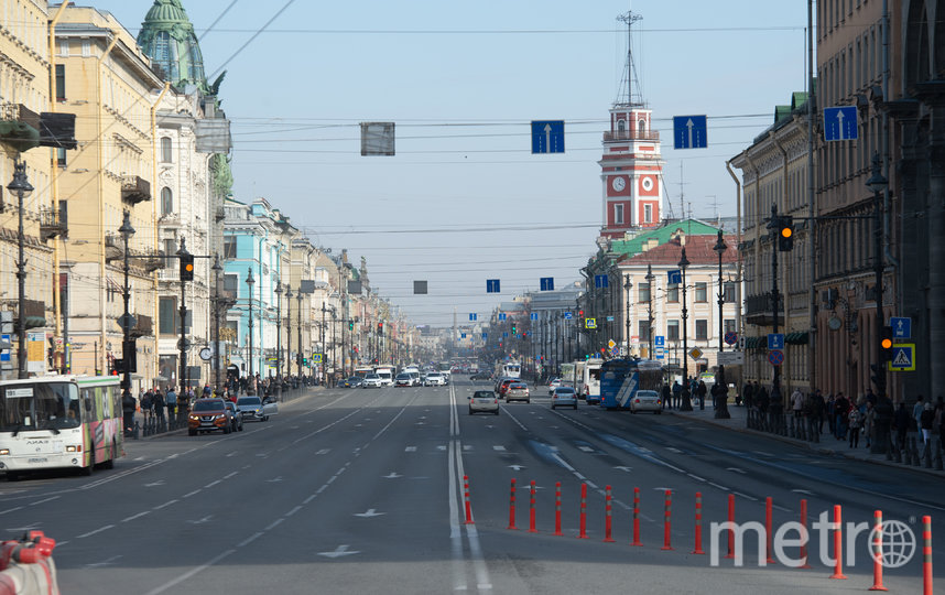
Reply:
[[[59,430],[80,423],[72,382],[18,382],[0,387],[0,432]]]

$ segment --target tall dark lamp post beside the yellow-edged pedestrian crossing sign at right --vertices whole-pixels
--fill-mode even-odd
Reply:
[[[882,175],[880,167],[879,153],[875,153],[872,158],[872,175],[866,182],[867,187],[873,194],[873,232],[876,241],[873,246],[873,272],[876,274],[876,364],[873,368],[873,382],[876,383],[876,440],[870,446],[871,453],[884,453],[889,441],[890,423],[893,416],[892,401],[886,394],[886,361],[882,355],[886,349],[882,347],[883,334],[882,328],[886,326],[886,317],[882,313],[882,194],[889,186],[889,181]]]

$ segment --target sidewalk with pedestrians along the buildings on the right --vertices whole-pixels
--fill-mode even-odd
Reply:
[[[935,470],[934,466],[934,454],[933,454],[933,466],[932,468],[925,467],[924,458],[921,459],[920,465],[906,465],[904,463],[897,463],[895,461],[887,461],[884,454],[872,454],[870,450],[866,447],[866,440],[862,435],[860,435],[859,448],[850,448],[849,441],[837,440],[829,432],[829,425],[826,420],[824,421],[824,433],[821,434],[819,442],[810,442],[800,439],[790,437],[790,435],[782,436],[780,434],[773,434],[770,432],[761,432],[758,430],[751,430],[747,426],[747,416],[748,416],[748,408],[746,407],[736,407],[731,399],[729,399],[728,412],[731,415],[728,420],[717,420],[715,419],[715,410],[712,407],[712,401],[706,401],[705,410],[699,410],[698,400],[693,401],[693,411],[676,411],[676,410],[665,410],[666,413],[672,415],[677,415],[680,418],[686,418],[696,420],[703,423],[707,423],[710,425],[716,425],[718,428],[725,428],[726,430],[731,430],[735,432],[741,432],[745,434],[754,434],[759,436],[767,436],[773,440],[778,440],[781,442],[786,442],[789,444],[794,444],[795,446],[802,446],[805,448],[810,448],[812,451],[816,451],[822,454],[828,454],[834,456],[844,456],[846,458],[851,458],[856,461],[865,461],[867,463],[873,463],[877,465],[886,465],[892,467],[908,468],[915,472],[922,472],[925,474],[935,475],[938,477],[945,477],[945,472]],[[790,421],[789,421],[790,424]],[[909,441],[915,436],[915,432],[911,432],[909,434]],[[933,441],[933,445],[934,445]],[[934,450],[933,450],[934,453]],[[922,446],[919,446],[920,457],[922,456]],[[904,458],[904,453],[903,453]]]

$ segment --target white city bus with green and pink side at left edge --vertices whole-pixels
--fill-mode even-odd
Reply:
[[[10,482],[39,469],[111,468],[122,432],[117,376],[0,381],[0,470]]]

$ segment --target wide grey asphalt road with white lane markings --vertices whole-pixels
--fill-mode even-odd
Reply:
[[[631,415],[583,402],[577,411],[552,411],[543,388],[529,404],[502,404],[498,416],[469,415],[472,388],[460,377],[450,387],[321,390],[241,433],[129,441],[128,456],[112,470],[0,484],[0,528],[8,538],[41,529],[58,541],[66,595],[756,595],[847,593],[872,584],[868,529],[845,545],[846,580],[829,578],[833,567],[821,561],[822,552],[833,552],[828,531],[811,534],[811,569],[760,566],[750,532],[742,566],[723,558],[724,536],[713,564],[710,523],[726,519],[729,494],[742,523],[763,523],[771,497],[775,529],[799,520],[802,498],[811,526],[840,505],[845,523],[871,522],[881,509],[886,520],[921,537],[917,519],[931,515],[933,536],[942,536],[934,556],[945,560],[941,478],[670,414]],[[465,522],[464,476],[472,523]],[[512,478],[515,530],[508,528]],[[553,534],[556,483],[562,536]],[[587,539],[578,539],[582,484]],[[605,542],[606,486],[612,543]],[[630,545],[634,487],[641,547]],[[673,549],[664,551],[667,489]],[[691,553],[697,491],[704,555]],[[799,548],[785,553],[796,559]],[[945,584],[945,573],[936,574]],[[884,584],[893,593],[921,592],[921,552],[902,567],[887,567]]]

